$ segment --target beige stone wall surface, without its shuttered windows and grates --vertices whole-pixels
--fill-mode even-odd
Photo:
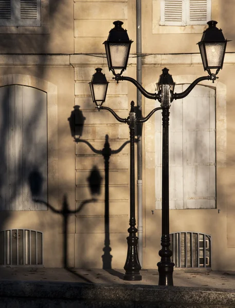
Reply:
[[[179,27],[160,29],[156,22],[158,5],[159,0],[142,1],[142,83],[149,91],[155,90],[158,76],[165,66],[178,83],[191,82],[197,76],[205,74],[196,45],[201,40],[203,27],[192,27],[186,29],[187,31]],[[226,3],[224,0],[212,1],[212,18],[218,20],[226,38],[233,40],[228,43],[230,53],[226,54],[219,81],[206,84],[216,91],[216,120],[221,134],[217,134],[216,139],[217,208],[170,212],[171,232],[192,230],[212,235],[212,268],[221,270],[235,269],[235,37],[231,8],[233,0],[226,0]],[[43,232],[44,266],[63,266],[66,253],[68,266],[102,267],[105,245],[112,249],[112,267],[122,268],[124,265],[129,226],[130,157],[129,144],[126,144],[129,129],[128,125],[117,122],[108,111],[98,112],[95,109],[88,83],[95,68],[102,67],[110,82],[105,106],[113,108],[120,117],[128,117],[130,102],[136,102],[136,88],[128,82],[116,84],[113,81],[113,75],[107,69],[102,43],[115,20],[122,20],[129,37],[136,41],[135,18],[133,0],[50,0],[48,34],[0,34],[0,52],[3,53],[0,55],[0,86],[23,84],[47,93],[48,200],[51,205],[48,211],[4,212],[1,214],[0,225],[1,229],[29,228]],[[135,42],[131,52],[129,67],[124,75],[136,78]],[[63,55],[59,55],[60,53]],[[76,137],[79,138],[77,142],[71,136],[68,123],[74,106],[79,106],[76,114],[84,120],[82,131],[80,122],[76,122]],[[153,107],[154,102],[143,98],[145,115]],[[154,118],[143,126],[144,268],[156,268],[161,235],[161,213],[155,210],[153,126]],[[101,153],[106,135],[109,137],[110,148],[114,151],[110,157],[109,190],[105,188],[107,174],[105,178]],[[125,146],[122,147],[123,145]],[[91,193],[88,183],[94,168],[98,179],[101,179],[97,194]],[[109,228],[104,215],[105,204],[106,214],[107,207],[109,208]],[[65,205],[70,211],[67,219],[61,215]]]

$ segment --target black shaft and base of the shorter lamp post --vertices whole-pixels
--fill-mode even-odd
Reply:
[[[134,102],[131,102],[131,111],[129,118],[130,128],[130,227],[128,229],[129,236],[126,238],[128,242],[128,253],[124,265],[124,280],[141,280],[142,276],[139,271],[141,269],[138,258],[138,237],[136,236],[137,228],[135,220],[135,125],[136,113],[134,110]]]

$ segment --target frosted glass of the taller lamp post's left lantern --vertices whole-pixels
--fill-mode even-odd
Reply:
[[[110,43],[110,56],[113,68],[124,68],[130,43]]]

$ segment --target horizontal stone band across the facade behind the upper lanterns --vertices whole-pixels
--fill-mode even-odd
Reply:
[[[136,54],[129,57],[129,66],[136,66]],[[200,53],[187,54],[143,54],[145,67],[197,66],[202,65]],[[235,65],[235,52],[225,54],[224,65]],[[106,67],[105,54],[0,54],[0,67]]]

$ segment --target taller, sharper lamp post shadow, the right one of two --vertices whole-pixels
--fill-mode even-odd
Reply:
[[[81,139],[83,133],[84,125],[84,116],[80,110],[80,106],[75,106],[74,110],[71,111],[70,117],[68,118],[69,126],[71,130],[71,137],[74,138],[74,141],[78,143],[86,144],[92,152],[97,155],[102,155],[104,159],[104,247],[102,258],[102,268],[105,269],[112,275],[115,275],[119,278],[123,278],[123,274],[114,271],[112,269],[112,258],[111,255],[112,248],[110,246],[110,194],[109,194],[109,174],[110,174],[110,157],[111,155],[121,152],[121,150],[128,144],[130,141],[125,141],[118,149],[112,150],[109,143],[109,135],[105,135],[104,147],[102,149],[96,149],[91,143],[87,140]],[[93,171],[92,171],[93,172]]]

